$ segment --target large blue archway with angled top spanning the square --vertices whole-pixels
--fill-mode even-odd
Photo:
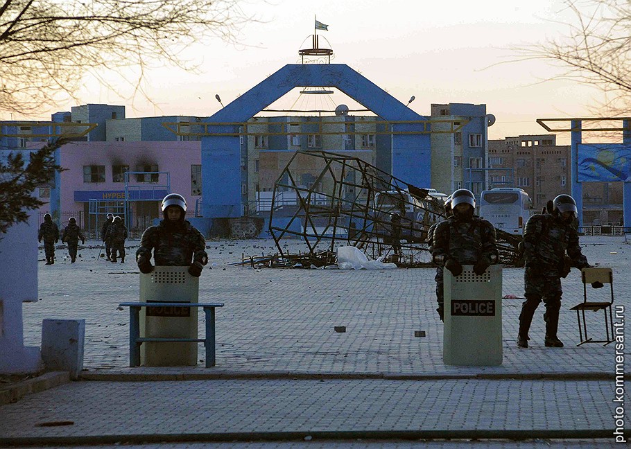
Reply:
[[[204,218],[242,215],[239,125],[295,87],[336,87],[388,121],[395,133],[392,175],[415,186],[430,186],[429,125],[420,123],[428,117],[406,107],[346,64],[288,64],[206,119],[210,135],[202,137]]]

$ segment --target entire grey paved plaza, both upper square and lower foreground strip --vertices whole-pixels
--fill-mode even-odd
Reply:
[[[209,240],[212,270],[200,278],[200,302],[225,303],[216,312],[216,367],[204,367],[200,345],[197,367],[130,368],[129,313],[117,306],[139,297],[137,241],[128,241],[124,264],[97,260],[100,242],[87,243],[77,263],[70,263],[65,249],[57,250],[55,265],[42,261],[40,301],[24,304],[27,345],[40,345],[42,319],[86,320],[83,380],[0,407],[0,442],[153,447],[180,441],[169,447],[238,447],[258,441],[264,447],[291,447],[303,441],[349,448],[615,444],[616,349],[614,344],[576,346],[576,313],[569,308],[583,297],[578,270],[563,280],[559,337],[564,348],[544,347],[543,305],[533,320],[530,348],[517,348],[522,299],[503,299],[503,364],[456,367],[442,361],[434,269],[252,268],[234,263],[242,254],[277,252],[273,240]],[[630,243],[622,237],[581,238],[590,263],[614,270],[614,306],[621,306],[614,308],[619,315],[614,322],[619,324],[631,308]],[[283,245],[292,253],[305,249],[299,240]],[[505,268],[503,294],[523,296],[523,276],[523,269]],[[604,336],[602,312],[589,312],[587,322],[590,336]],[[336,326],[346,332],[336,332]],[[202,334],[202,313],[199,329]],[[415,331],[424,336],[415,337]],[[627,358],[629,347],[623,351]],[[623,400],[630,403],[628,391]],[[62,421],[72,425],[42,426]],[[623,421],[628,432],[628,414]],[[528,441],[510,440],[528,434]],[[230,443],[231,438],[240,443]],[[274,441],[263,443],[268,439]]]

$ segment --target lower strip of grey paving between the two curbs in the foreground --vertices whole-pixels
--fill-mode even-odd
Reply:
[[[555,431],[571,438],[612,434],[614,387],[474,379],[83,381],[0,407],[0,436]]]

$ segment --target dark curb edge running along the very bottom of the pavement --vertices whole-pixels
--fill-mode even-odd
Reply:
[[[300,432],[226,432],[189,434],[121,434],[86,435],[76,437],[16,437],[0,438],[0,446],[78,446],[97,444],[150,444],[219,441],[326,441],[326,440],[466,440],[472,439],[609,439],[613,430],[340,430]]]

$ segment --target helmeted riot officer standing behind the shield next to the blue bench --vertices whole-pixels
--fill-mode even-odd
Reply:
[[[187,202],[182,195],[170,193],[162,200],[164,220],[157,226],[148,227],[142,234],[136,261],[142,273],[153,271],[151,252],[155,265],[189,267],[191,276],[200,276],[208,263],[206,240],[187,220]]]

